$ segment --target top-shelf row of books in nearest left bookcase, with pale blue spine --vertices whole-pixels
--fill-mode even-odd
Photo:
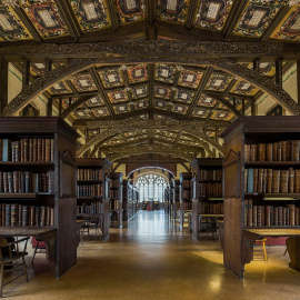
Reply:
[[[0,139],[0,161],[54,161],[54,140]]]

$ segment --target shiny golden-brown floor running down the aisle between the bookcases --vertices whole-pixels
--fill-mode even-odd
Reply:
[[[110,239],[86,237],[78,263],[54,279],[52,266],[38,254],[30,281],[3,289],[10,299],[300,299],[300,273],[288,268],[284,248],[269,247],[268,262],[252,261],[244,280],[223,268],[218,241],[192,241],[163,211],[140,211]],[[49,268],[48,268],[49,267]]]

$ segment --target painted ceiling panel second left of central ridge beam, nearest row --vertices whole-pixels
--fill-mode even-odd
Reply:
[[[111,26],[106,0],[69,0],[82,31]]]

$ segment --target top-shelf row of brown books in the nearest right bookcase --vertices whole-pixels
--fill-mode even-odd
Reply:
[[[300,140],[244,144],[246,161],[299,161]]]

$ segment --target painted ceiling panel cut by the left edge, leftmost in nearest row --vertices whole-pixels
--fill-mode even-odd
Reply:
[[[9,6],[0,4],[0,41],[32,39],[31,34]]]

